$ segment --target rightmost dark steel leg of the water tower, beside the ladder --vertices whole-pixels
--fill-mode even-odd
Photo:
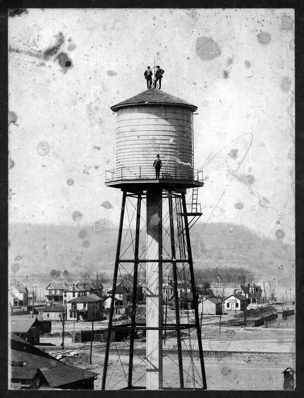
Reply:
[[[187,241],[188,262],[189,262],[189,270],[190,270],[191,285],[192,285],[193,306],[194,306],[195,320],[196,320],[196,326],[197,326],[199,353],[200,353],[200,361],[201,361],[201,368],[202,368],[203,389],[206,390],[207,383],[206,383],[206,374],[205,374],[205,367],[204,367],[204,361],[203,361],[203,345],[202,345],[202,334],[201,334],[201,328],[200,328],[199,302],[198,302],[198,295],[197,295],[197,289],[196,289],[195,278],[194,278],[193,259],[192,259],[191,243],[190,243],[190,233],[189,233],[189,224],[188,224],[188,218],[187,218],[187,204],[186,204],[185,194],[182,194],[182,203],[183,203],[183,213],[185,214],[184,215],[185,234],[186,234],[186,241]]]

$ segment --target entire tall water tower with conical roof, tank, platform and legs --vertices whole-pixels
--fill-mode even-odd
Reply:
[[[105,185],[122,191],[122,204],[102,389],[206,389],[189,233],[202,215],[203,173],[193,165],[197,107],[150,89],[111,109],[116,167],[106,171]],[[119,315],[121,300],[129,320]]]

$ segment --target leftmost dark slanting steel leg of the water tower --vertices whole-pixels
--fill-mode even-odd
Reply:
[[[109,315],[109,323],[108,323],[108,335],[107,335],[107,341],[106,341],[106,346],[105,346],[105,356],[104,356],[104,364],[103,364],[101,390],[105,389],[106,371],[107,371],[107,363],[108,363],[108,357],[109,357],[110,339],[111,339],[111,333],[112,333],[112,323],[113,323],[113,313],[114,313],[114,297],[115,297],[115,289],[116,289],[116,282],[117,282],[117,273],[118,273],[118,265],[119,265],[121,236],[122,236],[122,227],[123,227],[123,217],[124,217],[126,196],[127,196],[126,191],[124,191],[123,196],[122,196],[122,203],[121,203],[117,249],[116,249],[114,276],[113,276],[112,298],[111,298],[110,315]]]

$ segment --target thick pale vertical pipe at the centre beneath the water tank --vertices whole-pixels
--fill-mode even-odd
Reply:
[[[162,361],[162,190],[147,190],[146,324],[158,330],[146,332],[146,389],[163,388]]]

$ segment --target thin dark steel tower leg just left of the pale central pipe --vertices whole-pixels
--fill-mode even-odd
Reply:
[[[133,294],[132,294],[132,313],[131,313],[131,327],[135,327],[135,314],[136,314],[136,299],[137,299],[137,271],[138,271],[138,248],[139,248],[139,232],[140,232],[140,208],[141,208],[141,194],[137,197],[136,207],[136,231],[135,231],[135,247],[134,247],[134,272],[133,272]],[[134,333],[135,330],[131,329],[130,332],[130,352],[129,352],[129,372],[128,372],[128,388],[132,387],[132,374],[133,374],[133,349],[134,349]]]

